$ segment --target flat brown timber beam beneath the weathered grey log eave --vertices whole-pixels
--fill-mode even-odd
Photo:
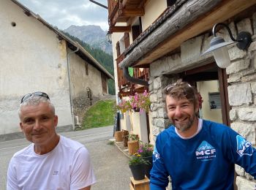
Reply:
[[[152,61],[157,60],[157,58],[165,56],[165,54],[176,49],[176,47],[179,47],[181,43],[185,42],[187,39],[202,34],[204,31],[210,30],[215,23],[224,22],[228,18],[233,17],[254,4],[256,4],[255,0],[246,0],[246,3],[241,0],[222,1],[217,8],[208,12],[206,15],[201,16],[181,31],[171,35],[168,39],[152,48],[153,50],[144,54],[136,65],[150,64]],[[145,46],[145,43],[143,43],[143,46]]]

